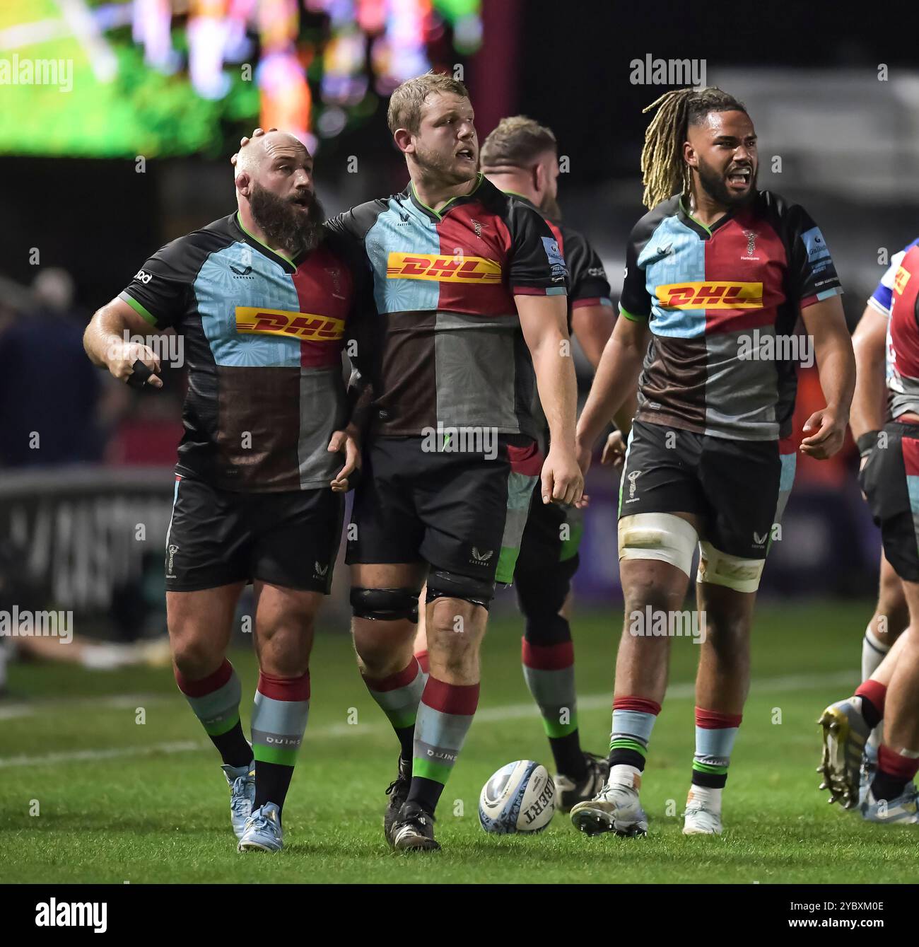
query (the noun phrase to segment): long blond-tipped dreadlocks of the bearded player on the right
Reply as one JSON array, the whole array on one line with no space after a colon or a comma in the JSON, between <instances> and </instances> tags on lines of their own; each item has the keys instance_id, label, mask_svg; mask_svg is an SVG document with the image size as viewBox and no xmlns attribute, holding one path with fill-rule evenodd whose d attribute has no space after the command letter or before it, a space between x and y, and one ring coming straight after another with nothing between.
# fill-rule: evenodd
<instances>
[{"instance_id":1,"label":"long blond-tipped dreadlocks of the bearded player on the right","mask_svg":"<svg viewBox=\"0 0 919 947\"><path fill-rule=\"evenodd\" d=\"M714 85L701 89L676 89L642 109L657 109L645 131L642 149L642 183L645 207L653 207L674 194L688 194L689 165L683 161L682 146L690 125L710 112L747 112L743 102Z\"/></svg>"}]
</instances>

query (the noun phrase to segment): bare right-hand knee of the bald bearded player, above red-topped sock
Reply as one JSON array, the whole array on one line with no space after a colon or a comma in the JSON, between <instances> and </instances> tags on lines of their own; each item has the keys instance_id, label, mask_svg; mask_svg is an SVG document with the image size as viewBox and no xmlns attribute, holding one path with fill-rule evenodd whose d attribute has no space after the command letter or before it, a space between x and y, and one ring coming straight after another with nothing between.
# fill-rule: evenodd
<instances>
[{"instance_id":1,"label":"bare right-hand knee of the bald bearded player, above red-topped sock","mask_svg":"<svg viewBox=\"0 0 919 947\"><path fill-rule=\"evenodd\" d=\"M276 677L301 677L309 670L313 622L323 596L256 582L258 665Z\"/></svg>"}]
</instances>

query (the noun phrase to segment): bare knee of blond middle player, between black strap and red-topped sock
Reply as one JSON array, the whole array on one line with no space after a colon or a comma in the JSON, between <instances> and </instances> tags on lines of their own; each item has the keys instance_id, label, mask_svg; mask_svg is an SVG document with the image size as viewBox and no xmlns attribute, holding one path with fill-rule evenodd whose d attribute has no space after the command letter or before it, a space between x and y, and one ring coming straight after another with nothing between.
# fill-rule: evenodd
<instances>
[{"instance_id":1,"label":"bare knee of blond middle player, between black strap and red-topped sock","mask_svg":"<svg viewBox=\"0 0 919 947\"><path fill-rule=\"evenodd\" d=\"M479 646L488 613L464 599L434 599L427 609L431 674L446 684L479 683Z\"/></svg>"}]
</instances>

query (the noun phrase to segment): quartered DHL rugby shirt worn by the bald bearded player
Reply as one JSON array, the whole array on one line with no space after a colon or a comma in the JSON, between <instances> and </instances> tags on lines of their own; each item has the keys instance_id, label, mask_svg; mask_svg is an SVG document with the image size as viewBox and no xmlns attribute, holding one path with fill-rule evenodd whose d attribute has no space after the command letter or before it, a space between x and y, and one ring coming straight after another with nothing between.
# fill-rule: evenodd
<instances>
[{"instance_id":1,"label":"quartered DHL rugby shirt worn by the bald bearded player","mask_svg":"<svg viewBox=\"0 0 919 947\"><path fill-rule=\"evenodd\" d=\"M185 339L176 472L234 491L327 487L342 466L327 450L346 420L341 352L368 290L338 235L287 259L237 214L153 254L119 298Z\"/></svg>"}]
</instances>

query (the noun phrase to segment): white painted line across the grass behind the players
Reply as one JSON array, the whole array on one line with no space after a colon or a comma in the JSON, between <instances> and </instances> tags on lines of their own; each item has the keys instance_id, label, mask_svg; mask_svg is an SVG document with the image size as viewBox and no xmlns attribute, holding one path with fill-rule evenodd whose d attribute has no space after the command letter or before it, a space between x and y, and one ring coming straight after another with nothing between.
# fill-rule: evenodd
<instances>
[{"instance_id":1,"label":"white painted line across the grass behind the players","mask_svg":"<svg viewBox=\"0 0 919 947\"><path fill-rule=\"evenodd\" d=\"M857 683L857 674L853 671L836 671L832 674L790 674L785 677L767 677L753 681L751 690L771 692L787 690L813 690L814 688L829 687L830 685L851 685ZM686 700L695 696L695 686L692 684L674 684L667 688L668 700ZM130 697L121 698L127 706L133 706ZM610 694L592 694L581 697L577 706L581 710L603 710L611 707ZM486 707L475 715L478 724L500 724L508 720L519 720L526 717L537 717L539 711L533 704L508 704L500 707ZM388 729L385 724L327 724L307 729L307 740L328 739L344 736L353 736L366 733L384 732ZM19 756L0 759L0 768L9 766L49 766L55 763L87 762L97 759L119 759L121 757L150 756L154 753L187 753L191 750L201 750L209 744L202 741L184 740L168 743L151 743L149 746L118 746L104 750L70 750L60 753L45 753L42 756Z\"/></svg>"}]
</instances>

